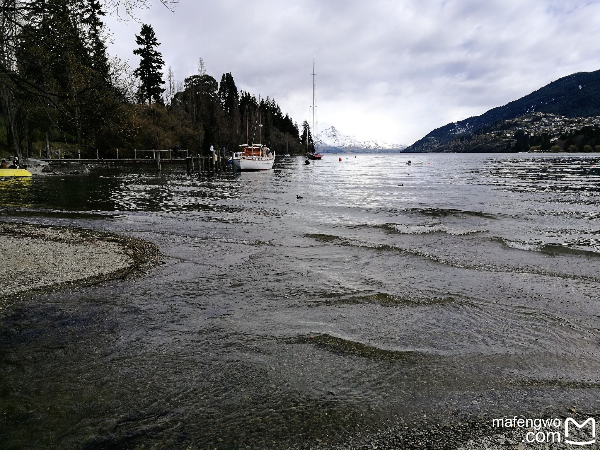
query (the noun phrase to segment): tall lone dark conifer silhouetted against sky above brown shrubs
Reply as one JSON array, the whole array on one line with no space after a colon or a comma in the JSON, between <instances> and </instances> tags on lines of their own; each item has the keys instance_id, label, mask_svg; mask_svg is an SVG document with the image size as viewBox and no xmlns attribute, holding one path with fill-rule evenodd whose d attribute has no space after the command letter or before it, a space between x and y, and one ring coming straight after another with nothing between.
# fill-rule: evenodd
<instances>
[{"instance_id":1,"label":"tall lone dark conifer silhouetted against sky above brown shrubs","mask_svg":"<svg viewBox=\"0 0 600 450\"><path fill-rule=\"evenodd\" d=\"M142 24L142 31L136 36L136 43L139 45L139 49L133 50L134 55L140 55L142 61L140 61L140 67L138 67L134 74L140 77L142 85L137 93L137 99L140 103L163 103L163 92L164 88L160 86L163 82L163 68L164 61L163 55L155 50L160 43L154 34L154 28L152 25Z\"/></svg>"}]
</instances>

